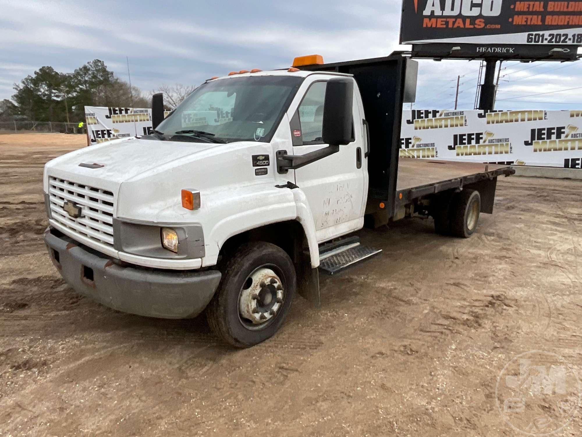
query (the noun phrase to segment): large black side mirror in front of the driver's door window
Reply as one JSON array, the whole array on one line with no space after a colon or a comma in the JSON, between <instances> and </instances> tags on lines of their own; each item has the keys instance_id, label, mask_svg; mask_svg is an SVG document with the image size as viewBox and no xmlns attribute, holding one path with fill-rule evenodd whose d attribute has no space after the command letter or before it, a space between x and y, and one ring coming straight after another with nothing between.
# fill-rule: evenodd
<instances>
[{"instance_id":1,"label":"large black side mirror in front of the driver's door window","mask_svg":"<svg viewBox=\"0 0 582 437\"><path fill-rule=\"evenodd\" d=\"M321 138L330 146L352 142L354 82L351 77L329 79L325 89Z\"/></svg>"}]
</instances>

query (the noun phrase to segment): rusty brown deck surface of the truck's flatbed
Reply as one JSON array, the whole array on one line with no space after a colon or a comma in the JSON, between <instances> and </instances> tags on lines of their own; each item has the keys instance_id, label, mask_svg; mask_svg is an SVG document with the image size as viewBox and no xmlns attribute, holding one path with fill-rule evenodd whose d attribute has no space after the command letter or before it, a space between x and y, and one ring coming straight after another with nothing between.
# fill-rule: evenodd
<instances>
[{"instance_id":1,"label":"rusty brown deck surface of the truck's flatbed","mask_svg":"<svg viewBox=\"0 0 582 437\"><path fill-rule=\"evenodd\" d=\"M507 167L507 165L470 163L467 161L400 158L398 161L396 191L440 184L451 179L459 179Z\"/></svg>"}]
</instances>

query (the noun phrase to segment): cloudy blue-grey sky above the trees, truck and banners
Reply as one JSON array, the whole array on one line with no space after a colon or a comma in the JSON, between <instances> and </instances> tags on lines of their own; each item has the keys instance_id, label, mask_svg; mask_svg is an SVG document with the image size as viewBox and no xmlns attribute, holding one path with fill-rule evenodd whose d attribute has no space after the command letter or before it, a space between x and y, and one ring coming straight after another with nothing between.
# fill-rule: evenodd
<instances>
[{"instance_id":1,"label":"cloudy blue-grey sky above the trees, truck and banners","mask_svg":"<svg viewBox=\"0 0 582 437\"><path fill-rule=\"evenodd\" d=\"M232 70L282 68L293 57L347 61L406 50L400 0L0 0L0 100L43 65L72 72L105 61L132 84L200 84ZM496 109L582 108L582 62L503 64ZM415 108L473 109L479 61L421 61ZM579 88L580 87L580 88Z\"/></svg>"}]
</instances>

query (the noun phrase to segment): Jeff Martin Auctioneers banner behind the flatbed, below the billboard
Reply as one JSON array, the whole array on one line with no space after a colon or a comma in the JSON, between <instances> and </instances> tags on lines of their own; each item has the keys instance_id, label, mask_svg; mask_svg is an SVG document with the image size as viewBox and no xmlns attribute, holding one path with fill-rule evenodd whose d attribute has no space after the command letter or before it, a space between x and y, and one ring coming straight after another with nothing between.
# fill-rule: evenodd
<instances>
[{"instance_id":1,"label":"Jeff Martin Auctioneers banner behind the flatbed, below the billboard","mask_svg":"<svg viewBox=\"0 0 582 437\"><path fill-rule=\"evenodd\" d=\"M407 110L400 157L582 167L582 111Z\"/></svg>"}]
</instances>

